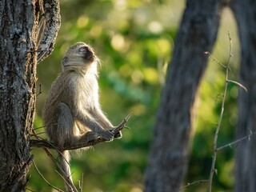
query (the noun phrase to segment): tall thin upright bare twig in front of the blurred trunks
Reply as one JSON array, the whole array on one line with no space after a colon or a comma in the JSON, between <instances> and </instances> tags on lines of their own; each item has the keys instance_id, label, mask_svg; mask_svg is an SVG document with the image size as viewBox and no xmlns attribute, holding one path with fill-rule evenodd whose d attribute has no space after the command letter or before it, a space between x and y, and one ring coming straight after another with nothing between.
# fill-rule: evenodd
<instances>
[{"instance_id":1,"label":"tall thin upright bare twig in front of the blurred trunks","mask_svg":"<svg viewBox=\"0 0 256 192\"><path fill-rule=\"evenodd\" d=\"M230 38L230 31L228 32L228 35L229 35L229 38ZM209 178L209 183L208 183L208 191L209 192L211 192L211 189L212 189L212 182L213 182L213 178L214 178L214 173L217 173L217 170L215 169L215 162L216 162L217 152L218 152L217 151L218 132L219 132L220 127L221 127L222 117L223 117L223 113L224 113L224 106L225 106L225 101L226 101L226 90L227 90L227 85L228 85L230 58L232 57L231 51L232 51L232 39L230 38L230 55L229 55L227 66L226 66L226 83L225 83L225 89L224 89L223 98L222 98L222 109L221 109L221 114L218 118L218 126L217 126L217 129L215 131L215 135L214 135L213 160L212 160L212 163L211 163L210 178Z\"/></svg>"}]
</instances>

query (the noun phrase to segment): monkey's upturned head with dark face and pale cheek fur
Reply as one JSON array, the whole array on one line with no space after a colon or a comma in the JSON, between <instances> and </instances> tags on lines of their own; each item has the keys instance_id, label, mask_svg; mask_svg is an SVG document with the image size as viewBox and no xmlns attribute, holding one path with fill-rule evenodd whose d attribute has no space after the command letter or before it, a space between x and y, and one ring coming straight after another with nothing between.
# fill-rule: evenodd
<instances>
[{"instance_id":1,"label":"monkey's upturned head with dark face and pale cheek fur","mask_svg":"<svg viewBox=\"0 0 256 192\"><path fill-rule=\"evenodd\" d=\"M97 66L97 63L94 50L84 42L77 42L66 50L62 70L87 70L90 66Z\"/></svg>"}]
</instances>

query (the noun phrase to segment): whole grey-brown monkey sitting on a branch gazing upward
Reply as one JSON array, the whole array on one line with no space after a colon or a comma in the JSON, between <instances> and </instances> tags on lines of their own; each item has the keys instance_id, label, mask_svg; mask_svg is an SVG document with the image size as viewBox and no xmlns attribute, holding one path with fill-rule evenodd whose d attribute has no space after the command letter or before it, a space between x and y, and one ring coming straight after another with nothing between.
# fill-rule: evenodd
<instances>
[{"instance_id":1,"label":"whole grey-brown monkey sitting on a branch gazing upward","mask_svg":"<svg viewBox=\"0 0 256 192\"><path fill-rule=\"evenodd\" d=\"M42 110L46 134L59 149L99 137L106 141L122 137L121 131L113 134L115 127L101 110L98 65L93 48L84 42L70 46L62 58L62 72L53 82ZM59 151L58 158L72 182L69 151ZM66 189L73 191L67 184Z\"/></svg>"}]
</instances>

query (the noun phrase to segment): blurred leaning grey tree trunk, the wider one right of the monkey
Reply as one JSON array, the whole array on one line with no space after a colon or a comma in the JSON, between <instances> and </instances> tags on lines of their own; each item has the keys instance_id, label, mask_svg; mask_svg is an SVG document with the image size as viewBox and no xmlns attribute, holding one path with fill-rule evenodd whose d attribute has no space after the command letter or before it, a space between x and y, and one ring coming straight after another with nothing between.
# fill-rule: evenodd
<instances>
[{"instance_id":1,"label":"blurred leaning grey tree trunk, the wider one right of the monkey","mask_svg":"<svg viewBox=\"0 0 256 192\"><path fill-rule=\"evenodd\" d=\"M177 191L186 173L194 98L218 33L222 3L189 0L154 126L145 191Z\"/></svg>"}]
</instances>

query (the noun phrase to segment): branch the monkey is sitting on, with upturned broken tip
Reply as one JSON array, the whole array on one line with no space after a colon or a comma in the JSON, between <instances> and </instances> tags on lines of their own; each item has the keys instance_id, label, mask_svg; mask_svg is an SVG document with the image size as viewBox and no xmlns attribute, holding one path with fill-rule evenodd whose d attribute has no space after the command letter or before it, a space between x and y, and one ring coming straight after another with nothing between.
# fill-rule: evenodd
<instances>
[{"instance_id":1,"label":"branch the monkey is sitting on, with upturned broken tip","mask_svg":"<svg viewBox=\"0 0 256 192\"><path fill-rule=\"evenodd\" d=\"M113 130L114 134L117 134L120 130L123 128L128 128L126 126L126 122L128 122L131 114L128 114L126 118L122 120L122 122ZM62 148L58 148L57 146L54 146L53 142L49 142L46 139L30 139L30 147L46 147L48 149L56 149L56 150L77 150L86 146L95 146L96 144L100 142L106 142L107 140L104 138L97 138L95 140L92 140L90 142L81 142L81 143L76 143L73 145L66 145L63 146Z\"/></svg>"}]
</instances>

